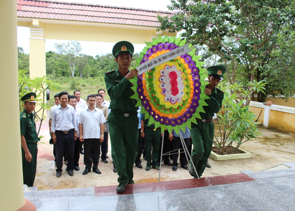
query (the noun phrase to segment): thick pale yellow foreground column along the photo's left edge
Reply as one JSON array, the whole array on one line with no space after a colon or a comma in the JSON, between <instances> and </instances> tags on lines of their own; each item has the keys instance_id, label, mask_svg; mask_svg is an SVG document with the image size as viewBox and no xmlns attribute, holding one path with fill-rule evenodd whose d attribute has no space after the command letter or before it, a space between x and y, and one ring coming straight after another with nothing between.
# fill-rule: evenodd
<instances>
[{"instance_id":1,"label":"thick pale yellow foreground column along the photo's left edge","mask_svg":"<svg viewBox=\"0 0 295 211\"><path fill-rule=\"evenodd\" d=\"M0 90L9 105L0 104L0 210L18 210L24 205L22 152L19 126L17 73L17 4L0 2Z\"/></svg>"}]
</instances>

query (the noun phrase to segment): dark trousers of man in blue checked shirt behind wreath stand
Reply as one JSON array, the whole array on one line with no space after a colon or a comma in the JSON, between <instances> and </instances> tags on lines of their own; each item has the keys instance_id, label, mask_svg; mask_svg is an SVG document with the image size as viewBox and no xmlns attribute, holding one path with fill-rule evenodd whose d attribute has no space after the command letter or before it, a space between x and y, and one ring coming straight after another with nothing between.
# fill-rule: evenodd
<instances>
[{"instance_id":1,"label":"dark trousers of man in blue checked shirt behind wreath stand","mask_svg":"<svg viewBox=\"0 0 295 211\"><path fill-rule=\"evenodd\" d=\"M183 140L184 140L186 147L189 149L189 138L184 138ZM178 160L178 150L179 149L181 149L180 150L180 159L179 159L180 165L181 166L186 165L186 162L187 162L186 156L189 158L189 155L188 155L188 153L186 153L186 156L185 156L183 146L181 144L181 140L177 136L173 136L172 149L173 149L172 153L176 153L176 154L172 155L173 156L173 166L178 166L177 160Z\"/></svg>"}]
</instances>

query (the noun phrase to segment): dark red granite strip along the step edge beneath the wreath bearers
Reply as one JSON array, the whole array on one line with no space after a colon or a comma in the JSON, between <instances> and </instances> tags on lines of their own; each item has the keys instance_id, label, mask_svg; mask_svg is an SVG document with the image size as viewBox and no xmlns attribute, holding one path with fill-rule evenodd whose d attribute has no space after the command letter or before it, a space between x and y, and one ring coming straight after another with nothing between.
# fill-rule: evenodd
<instances>
[{"instance_id":1,"label":"dark red granite strip along the step edge beneath the wreath bearers","mask_svg":"<svg viewBox=\"0 0 295 211\"><path fill-rule=\"evenodd\" d=\"M237 182L255 181L252 177L246 174L231 174L224 176L204 177L201 179L182 179L163 182L150 182L128 185L123 193L116 192L116 185L94 187L96 197L101 196L114 196L122 194L135 194L135 193L149 193L158 191L168 191L177 189L187 189L196 187L206 187L213 185L231 184Z\"/></svg>"}]
</instances>

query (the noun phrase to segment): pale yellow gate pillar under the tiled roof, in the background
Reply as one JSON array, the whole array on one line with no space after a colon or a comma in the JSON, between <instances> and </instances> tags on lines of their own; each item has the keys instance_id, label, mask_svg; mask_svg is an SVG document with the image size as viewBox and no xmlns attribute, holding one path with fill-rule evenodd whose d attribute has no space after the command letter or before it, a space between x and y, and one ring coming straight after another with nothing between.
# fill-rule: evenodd
<instances>
[{"instance_id":1,"label":"pale yellow gate pillar under the tiled roof, in the background","mask_svg":"<svg viewBox=\"0 0 295 211\"><path fill-rule=\"evenodd\" d=\"M43 23L33 19L30 25L30 78L46 75Z\"/></svg>"}]
</instances>

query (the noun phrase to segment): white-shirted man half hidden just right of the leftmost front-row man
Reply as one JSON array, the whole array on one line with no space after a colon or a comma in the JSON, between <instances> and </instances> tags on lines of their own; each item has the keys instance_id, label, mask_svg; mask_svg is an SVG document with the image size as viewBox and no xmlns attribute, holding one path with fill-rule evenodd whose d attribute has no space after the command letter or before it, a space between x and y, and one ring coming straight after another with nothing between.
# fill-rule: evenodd
<instances>
[{"instance_id":1,"label":"white-shirted man half hidden just right of the leftmost front-row man","mask_svg":"<svg viewBox=\"0 0 295 211\"><path fill-rule=\"evenodd\" d=\"M78 124L78 119L79 119L79 115L81 112L81 109L77 108L77 97L74 95L70 95L69 97L69 102L68 104L73 106L75 109L75 116L76 116L76 121L77 121L77 127L79 128L79 124ZM79 167L79 159L80 159L80 147L81 147L81 142L79 140L80 137L80 133L79 130L77 130L77 140L75 141L75 147L74 147L74 166L75 166L75 170L79 171L80 167Z\"/></svg>"}]
</instances>

